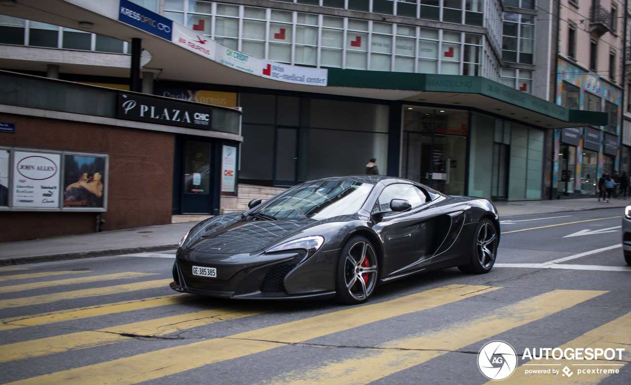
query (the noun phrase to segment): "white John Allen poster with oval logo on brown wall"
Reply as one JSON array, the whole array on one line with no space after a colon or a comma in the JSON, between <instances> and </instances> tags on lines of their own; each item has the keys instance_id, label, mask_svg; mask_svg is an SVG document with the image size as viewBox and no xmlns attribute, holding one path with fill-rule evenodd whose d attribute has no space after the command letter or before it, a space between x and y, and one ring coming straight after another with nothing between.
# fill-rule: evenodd
<instances>
[{"instance_id":1,"label":"white John Allen poster with oval logo on brown wall","mask_svg":"<svg viewBox=\"0 0 631 385\"><path fill-rule=\"evenodd\" d=\"M13 153L13 207L59 208L61 154Z\"/></svg>"}]
</instances>

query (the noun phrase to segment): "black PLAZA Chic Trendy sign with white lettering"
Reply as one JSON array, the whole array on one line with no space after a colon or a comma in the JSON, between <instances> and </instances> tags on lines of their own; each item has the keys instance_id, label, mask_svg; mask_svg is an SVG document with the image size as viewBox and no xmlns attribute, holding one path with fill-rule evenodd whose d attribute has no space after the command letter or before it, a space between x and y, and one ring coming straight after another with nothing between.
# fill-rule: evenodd
<instances>
[{"instance_id":1,"label":"black PLAZA Chic Trendy sign with white lettering","mask_svg":"<svg viewBox=\"0 0 631 385\"><path fill-rule=\"evenodd\" d=\"M203 105L119 94L117 117L168 126L211 129L213 109Z\"/></svg>"}]
</instances>

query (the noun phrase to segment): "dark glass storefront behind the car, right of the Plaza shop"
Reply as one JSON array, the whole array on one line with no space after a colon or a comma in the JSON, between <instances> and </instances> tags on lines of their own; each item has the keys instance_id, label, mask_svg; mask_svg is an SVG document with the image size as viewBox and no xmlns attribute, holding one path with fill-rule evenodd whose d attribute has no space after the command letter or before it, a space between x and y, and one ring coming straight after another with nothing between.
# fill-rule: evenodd
<instances>
[{"instance_id":1,"label":"dark glass storefront behind the car, right of the Plaza shop","mask_svg":"<svg viewBox=\"0 0 631 385\"><path fill-rule=\"evenodd\" d=\"M389 106L241 93L240 179L291 186L365 174L370 158L386 174Z\"/></svg>"}]
</instances>

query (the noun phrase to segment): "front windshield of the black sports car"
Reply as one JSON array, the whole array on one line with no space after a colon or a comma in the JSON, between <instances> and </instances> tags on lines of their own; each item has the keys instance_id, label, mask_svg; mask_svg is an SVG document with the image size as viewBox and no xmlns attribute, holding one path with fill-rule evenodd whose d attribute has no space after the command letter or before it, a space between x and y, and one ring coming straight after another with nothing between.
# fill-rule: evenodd
<instances>
[{"instance_id":1,"label":"front windshield of the black sports car","mask_svg":"<svg viewBox=\"0 0 631 385\"><path fill-rule=\"evenodd\" d=\"M322 220L357 213L374 184L349 181L320 181L300 184L265 204L256 214L278 220L312 218ZM255 215L256 215L255 214Z\"/></svg>"}]
</instances>

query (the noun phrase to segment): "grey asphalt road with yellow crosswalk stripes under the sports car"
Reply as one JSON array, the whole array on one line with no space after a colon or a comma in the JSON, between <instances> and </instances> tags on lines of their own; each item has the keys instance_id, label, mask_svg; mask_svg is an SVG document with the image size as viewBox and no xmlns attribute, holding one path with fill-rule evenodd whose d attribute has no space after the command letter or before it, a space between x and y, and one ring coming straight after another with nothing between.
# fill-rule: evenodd
<instances>
[{"instance_id":1,"label":"grey asphalt road with yellow crosswalk stripes under the sports car","mask_svg":"<svg viewBox=\"0 0 631 385\"><path fill-rule=\"evenodd\" d=\"M486 384L495 381L478 369L478 352L502 340L518 365L502 384L628 384L631 266L620 215L502 218L487 275L454 268L406 278L354 307L175 293L174 252L0 268L0 382ZM522 359L527 348L557 347L624 351L614 360ZM526 374L565 367L571 377Z\"/></svg>"}]
</instances>

